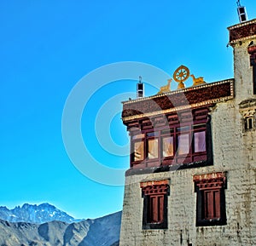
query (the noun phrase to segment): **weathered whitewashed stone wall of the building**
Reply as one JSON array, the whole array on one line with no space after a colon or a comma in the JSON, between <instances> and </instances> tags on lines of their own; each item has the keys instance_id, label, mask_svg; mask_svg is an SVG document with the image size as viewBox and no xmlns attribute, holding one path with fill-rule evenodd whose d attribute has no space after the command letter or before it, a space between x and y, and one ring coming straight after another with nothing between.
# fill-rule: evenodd
<instances>
[{"instance_id":1,"label":"weathered whitewashed stone wall of the building","mask_svg":"<svg viewBox=\"0 0 256 246\"><path fill-rule=\"evenodd\" d=\"M239 105L256 100L247 45L256 38L233 43L235 98L217 103L212 116L213 165L154 174L126 176L120 246L256 245L256 131L245 131ZM252 110L249 109L248 110ZM253 108L255 111L255 109ZM195 174L226 172L227 224L195 226ZM140 182L170 180L168 229L143 230Z\"/></svg>"}]
</instances>

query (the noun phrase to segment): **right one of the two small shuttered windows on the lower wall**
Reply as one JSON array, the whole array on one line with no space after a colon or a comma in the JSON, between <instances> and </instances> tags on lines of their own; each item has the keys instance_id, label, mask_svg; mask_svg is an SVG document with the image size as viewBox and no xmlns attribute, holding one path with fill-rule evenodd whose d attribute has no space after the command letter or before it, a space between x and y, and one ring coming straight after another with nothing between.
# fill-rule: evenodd
<instances>
[{"instance_id":1,"label":"right one of the two small shuttered windows on the lower wall","mask_svg":"<svg viewBox=\"0 0 256 246\"><path fill-rule=\"evenodd\" d=\"M201 178L198 178L201 177ZM226 225L226 179L223 173L195 175L196 222L195 226Z\"/></svg>"}]
</instances>

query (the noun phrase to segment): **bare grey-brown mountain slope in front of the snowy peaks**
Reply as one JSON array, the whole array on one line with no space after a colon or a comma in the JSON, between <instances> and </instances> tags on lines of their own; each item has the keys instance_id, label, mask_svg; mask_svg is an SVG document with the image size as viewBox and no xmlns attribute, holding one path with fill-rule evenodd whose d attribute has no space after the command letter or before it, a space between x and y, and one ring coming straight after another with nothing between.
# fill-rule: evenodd
<instances>
[{"instance_id":1,"label":"bare grey-brown mountain slope in front of the snowy peaks","mask_svg":"<svg viewBox=\"0 0 256 246\"><path fill-rule=\"evenodd\" d=\"M121 212L72 223L54 220L35 224L0 220L0 246L119 245L120 223Z\"/></svg>"}]
</instances>

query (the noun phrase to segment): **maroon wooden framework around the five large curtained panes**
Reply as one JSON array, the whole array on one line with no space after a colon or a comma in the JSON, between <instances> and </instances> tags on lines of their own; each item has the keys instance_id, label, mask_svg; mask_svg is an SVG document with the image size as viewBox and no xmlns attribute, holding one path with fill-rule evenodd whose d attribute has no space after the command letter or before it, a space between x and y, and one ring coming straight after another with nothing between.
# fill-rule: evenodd
<instances>
[{"instance_id":1,"label":"maroon wooden framework around the five large curtained panes","mask_svg":"<svg viewBox=\"0 0 256 246\"><path fill-rule=\"evenodd\" d=\"M196 151L195 146L195 134L203 132L205 142L202 144L204 147L197 146L201 148L201 151ZM141 138L137 138L142 136ZM181 153L178 140L182 137L188 135L189 146L188 151ZM163 154L163 141L166 137L172 138L173 150L172 155L165 156ZM148 157L148 141L156 140L158 142L158 152L157 157ZM183 140L185 140L183 138ZM140 160L135 160L134 145L137 141L143 142L143 158ZM198 161L207 160L207 123L204 121L199 121L196 124L176 124L172 127L162 128L162 129L150 129L142 132L131 133L131 167L132 168L145 168L160 165L170 165L175 163L193 163Z\"/></svg>"}]
</instances>

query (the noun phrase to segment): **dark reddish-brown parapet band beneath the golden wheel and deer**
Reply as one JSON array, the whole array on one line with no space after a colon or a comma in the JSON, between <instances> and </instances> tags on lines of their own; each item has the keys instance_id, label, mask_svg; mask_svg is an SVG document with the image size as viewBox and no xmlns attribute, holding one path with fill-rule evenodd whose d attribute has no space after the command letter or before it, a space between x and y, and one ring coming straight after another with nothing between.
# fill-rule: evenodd
<instances>
[{"instance_id":1,"label":"dark reddish-brown parapet band beneath the golden wheel and deer","mask_svg":"<svg viewBox=\"0 0 256 246\"><path fill-rule=\"evenodd\" d=\"M123 102L123 122L180 112L234 98L234 79Z\"/></svg>"}]
</instances>

